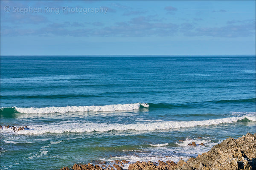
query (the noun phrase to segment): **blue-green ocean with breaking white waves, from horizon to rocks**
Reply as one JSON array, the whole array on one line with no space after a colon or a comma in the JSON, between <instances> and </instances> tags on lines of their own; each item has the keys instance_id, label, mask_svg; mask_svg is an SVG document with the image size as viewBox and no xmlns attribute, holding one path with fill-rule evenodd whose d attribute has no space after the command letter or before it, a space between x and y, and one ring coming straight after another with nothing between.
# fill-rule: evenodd
<instances>
[{"instance_id":1,"label":"blue-green ocean with breaking white waves, from horizon to rocks","mask_svg":"<svg viewBox=\"0 0 256 170\"><path fill-rule=\"evenodd\" d=\"M0 169L187 161L255 133L255 66L242 55L1 56Z\"/></svg>"}]
</instances>

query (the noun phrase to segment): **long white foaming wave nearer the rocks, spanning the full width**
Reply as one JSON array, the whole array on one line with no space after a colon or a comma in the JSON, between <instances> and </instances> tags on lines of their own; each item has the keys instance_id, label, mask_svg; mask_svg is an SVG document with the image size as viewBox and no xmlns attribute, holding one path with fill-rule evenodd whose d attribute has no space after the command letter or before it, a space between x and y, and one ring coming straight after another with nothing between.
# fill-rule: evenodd
<instances>
[{"instance_id":1,"label":"long white foaming wave nearer the rocks, spanning the full width","mask_svg":"<svg viewBox=\"0 0 256 170\"><path fill-rule=\"evenodd\" d=\"M28 125L30 129L13 132L11 128L3 128L2 132L18 134L43 134L43 133L86 133L86 132L107 132L112 130L125 131L149 131L149 130L168 130L173 128L195 127L219 125L221 123L233 123L241 120L256 121L255 116L227 117L222 119L209 119L200 121L166 121L137 124L106 124L106 123L54 123L49 125Z\"/></svg>"}]
</instances>

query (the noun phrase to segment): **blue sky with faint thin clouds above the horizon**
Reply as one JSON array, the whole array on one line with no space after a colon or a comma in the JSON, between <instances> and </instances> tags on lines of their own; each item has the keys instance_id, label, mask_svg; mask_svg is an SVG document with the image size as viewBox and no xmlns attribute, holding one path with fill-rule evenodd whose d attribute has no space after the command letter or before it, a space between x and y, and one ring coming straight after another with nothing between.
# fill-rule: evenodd
<instances>
[{"instance_id":1,"label":"blue sky with faint thin clouds above the horizon","mask_svg":"<svg viewBox=\"0 0 256 170\"><path fill-rule=\"evenodd\" d=\"M0 1L0 55L255 55L256 1Z\"/></svg>"}]
</instances>

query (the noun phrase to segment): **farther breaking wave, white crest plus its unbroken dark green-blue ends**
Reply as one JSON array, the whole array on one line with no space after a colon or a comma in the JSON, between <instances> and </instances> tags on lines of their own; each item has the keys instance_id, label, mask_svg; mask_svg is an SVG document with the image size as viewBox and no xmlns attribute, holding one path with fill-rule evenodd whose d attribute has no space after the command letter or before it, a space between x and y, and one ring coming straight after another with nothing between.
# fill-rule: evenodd
<instances>
[{"instance_id":1,"label":"farther breaking wave, white crest plus its unbroken dark green-blue ends","mask_svg":"<svg viewBox=\"0 0 256 170\"><path fill-rule=\"evenodd\" d=\"M2 96L1 96L2 97ZM105 106L66 106L66 107L46 107L46 108L18 108L9 107L1 108L1 116L10 116L14 113L67 113L67 112L88 112L88 111L131 111L140 108L196 108L209 107L209 103L255 103L256 98L248 99L233 99L233 100L211 100L204 102L186 102L186 103L132 103L132 104L118 104L118 105L105 105Z\"/></svg>"}]
</instances>

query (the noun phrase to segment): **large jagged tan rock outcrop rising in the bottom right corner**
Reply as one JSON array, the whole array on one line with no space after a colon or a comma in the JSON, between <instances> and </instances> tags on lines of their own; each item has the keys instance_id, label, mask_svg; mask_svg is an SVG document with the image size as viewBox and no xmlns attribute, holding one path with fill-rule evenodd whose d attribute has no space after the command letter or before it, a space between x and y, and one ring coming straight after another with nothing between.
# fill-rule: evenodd
<instances>
[{"instance_id":1,"label":"large jagged tan rock outcrop rising in the bottom right corner","mask_svg":"<svg viewBox=\"0 0 256 170\"><path fill-rule=\"evenodd\" d=\"M178 169L256 169L256 133L238 139L227 138L207 153L190 158Z\"/></svg>"}]
</instances>

